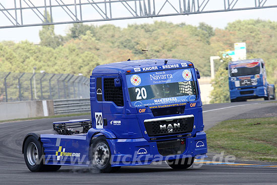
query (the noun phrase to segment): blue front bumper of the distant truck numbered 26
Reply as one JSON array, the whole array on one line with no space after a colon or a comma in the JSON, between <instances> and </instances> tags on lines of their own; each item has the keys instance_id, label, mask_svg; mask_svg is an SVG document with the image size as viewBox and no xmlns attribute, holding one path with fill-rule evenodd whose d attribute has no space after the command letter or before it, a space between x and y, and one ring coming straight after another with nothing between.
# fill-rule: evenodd
<instances>
[{"instance_id":1,"label":"blue front bumper of the distant truck numbered 26","mask_svg":"<svg viewBox=\"0 0 277 185\"><path fill-rule=\"evenodd\" d=\"M258 87L249 87L249 88L235 88L230 90L230 99L236 98L259 98L265 97L266 95L266 88L264 86Z\"/></svg>"}]
</instances>

